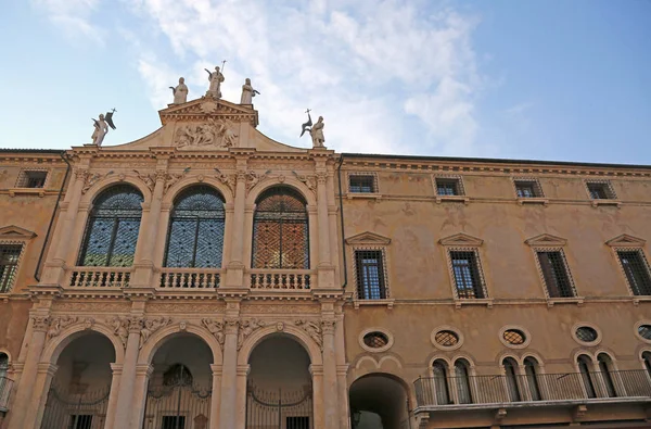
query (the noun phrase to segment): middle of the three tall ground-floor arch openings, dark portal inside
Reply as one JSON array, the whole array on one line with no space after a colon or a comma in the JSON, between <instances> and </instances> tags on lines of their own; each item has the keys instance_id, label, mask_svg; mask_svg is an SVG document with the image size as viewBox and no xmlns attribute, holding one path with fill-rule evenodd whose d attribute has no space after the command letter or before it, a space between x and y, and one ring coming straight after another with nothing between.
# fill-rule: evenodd
<instances>
[{"instance_id":1,"label":"middle of the three tall ground-floor arch openings, dark portal inside","mask_svg":"<svg viewBox=\"0 0 651 429\"><path fill-rule=\"evenodd\" d=\"M199 337L179 333L152 358L143 429L207 429L213 351Z\"/></svg>"}]
</instances>

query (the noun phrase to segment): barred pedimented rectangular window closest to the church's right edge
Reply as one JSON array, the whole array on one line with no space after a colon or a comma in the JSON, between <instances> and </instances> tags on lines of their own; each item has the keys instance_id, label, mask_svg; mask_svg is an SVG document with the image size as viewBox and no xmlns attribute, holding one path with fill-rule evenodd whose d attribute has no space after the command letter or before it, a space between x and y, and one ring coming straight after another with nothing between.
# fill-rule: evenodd
<instances>
[{"instance_id":1,"label":"barred pedimented rectangular window closest to the church's right edge","mask_svg":"<svg viewBox=\"0 0 651 429\"><path fill-rule=\"evenodd\" d=\"M357 298L360 300L386 299L384 257L381 250L355 251L357 268Z\"/></svg>"}]
</instances>

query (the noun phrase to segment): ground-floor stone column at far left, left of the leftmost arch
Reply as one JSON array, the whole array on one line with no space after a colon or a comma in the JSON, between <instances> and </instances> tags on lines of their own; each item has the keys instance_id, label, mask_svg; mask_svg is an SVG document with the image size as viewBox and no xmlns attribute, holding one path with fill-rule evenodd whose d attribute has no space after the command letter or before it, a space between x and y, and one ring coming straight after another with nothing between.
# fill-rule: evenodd
<instances>
[{"instance_id":1,"label":"ground-floor stone column at far left, left of the leftmost arch","mask_svg":"<svg viewBox=\"0 0 651 429\"><path fill-rule=\"evenodd\" d=\"M47 392L35 391L38 363L40 361L46 332L50 326L50 317L43 315L31 316L31 339L25 357L25 366L21 375L21 381L14 400L14 407L9 418L9 429L26 429L24 425L27 415L34 415L38 411L40 396ZM37 400L38 399L38 400ZM21 406L16 406L22 404Z\"/></svg>"}]
</instances>

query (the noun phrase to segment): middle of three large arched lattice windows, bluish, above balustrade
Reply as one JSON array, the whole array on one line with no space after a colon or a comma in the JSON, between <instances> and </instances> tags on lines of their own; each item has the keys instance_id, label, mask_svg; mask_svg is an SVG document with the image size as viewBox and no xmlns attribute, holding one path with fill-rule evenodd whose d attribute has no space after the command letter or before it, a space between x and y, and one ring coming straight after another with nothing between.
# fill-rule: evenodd
<instances>
[{"instance_id":1,"label":"middle of three large arched lattice windows, bluish, above balustrade","mask_svg":"<svg viewBox=\"0 0 651 429\"><path fill-rule=\"evenodd\" d=\"M224 199L208 186L179 194L171 211L166 267L220 268L224 250Z\"/></svg>"}]
</instances>

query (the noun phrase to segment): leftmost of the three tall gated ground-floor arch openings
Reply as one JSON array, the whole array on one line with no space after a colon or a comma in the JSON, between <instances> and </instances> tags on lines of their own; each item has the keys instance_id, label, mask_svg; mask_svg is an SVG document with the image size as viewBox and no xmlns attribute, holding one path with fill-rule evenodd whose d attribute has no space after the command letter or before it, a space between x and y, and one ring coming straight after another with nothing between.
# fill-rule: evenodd
<instances>
[{"instance_id":1,"label":"leftmost of the three tall gated ground-floor arch openings","mask_svg":"<svg viewBox=\"0 0 651 429\"><path fill-rule=\"evenodd\" d=\"M115 362L113 343L88 332L71 341L56 359L41 428L102 428Z\"/></svg>"}]
</instances>

